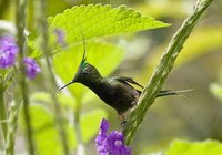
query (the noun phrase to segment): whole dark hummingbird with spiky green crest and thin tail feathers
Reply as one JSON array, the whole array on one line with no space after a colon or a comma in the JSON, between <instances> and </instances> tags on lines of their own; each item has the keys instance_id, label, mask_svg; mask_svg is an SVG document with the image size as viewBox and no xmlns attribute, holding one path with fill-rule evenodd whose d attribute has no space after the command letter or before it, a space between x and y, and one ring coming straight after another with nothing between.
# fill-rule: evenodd
<instances>
[{"instance_id":1,"label":"whole dark hummingbird with spiky green crest and thin tail feathers","mask_svg":"<svg viewBox=\"0 0 222 155\"><path fill-rule=\"evenodd\" d=\"M83 46L83 56L74 78L69 83L61 86L59 91L73 83L83 84L94 92L105 104L113 107L120 116L122 123L125 122L125 112L137 105L142 92L134 89L132 85L137 85L141 89L143 89L143 86L135 82L132 78L102 76L95 66L87 62L84 40ZM161 90L157 97L178 95L178 92L179 91Z\"/></svg>"}]
</instances>

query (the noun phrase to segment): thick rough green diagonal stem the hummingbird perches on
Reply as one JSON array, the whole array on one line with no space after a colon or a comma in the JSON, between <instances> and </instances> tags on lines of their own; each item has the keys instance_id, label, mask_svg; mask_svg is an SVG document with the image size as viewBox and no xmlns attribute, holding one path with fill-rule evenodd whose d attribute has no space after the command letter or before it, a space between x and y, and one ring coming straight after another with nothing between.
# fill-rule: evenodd
<instances>
[{"instance_id":1,"label":"thick rough green diagonal stem the hummingbird perches on","mask_svg":"<svg viewBox=\"0 0 222 155\"><path fill-rule=\"evenodd\" d=\"M139 126L145 116L147 111L154 102L157 94L160 92L164 81L168 78L168 74L173 68L175 59L183 48L185 40L191 34L194 25L196 24L198 19L200 19L202 13L212 2L213 0L199 0L193 13L184 20L181 28L172 38L169 46L160 60L159 65L157 66L148 85L144 87L139 99L138 107L131 112L129 121L127 125L124 125L123 131L127 145L130 145L132 142Z\"/></svg>"}]
</instances>

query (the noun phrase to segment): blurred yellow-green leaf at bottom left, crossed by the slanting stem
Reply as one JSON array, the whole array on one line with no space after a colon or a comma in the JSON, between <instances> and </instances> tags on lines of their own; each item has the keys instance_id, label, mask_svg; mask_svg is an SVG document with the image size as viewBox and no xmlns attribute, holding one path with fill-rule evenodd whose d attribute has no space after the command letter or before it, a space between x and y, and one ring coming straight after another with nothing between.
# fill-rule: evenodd
<instances>
[{"instance_id":1,"label":"blurred yellow-green leaf at bottom left, crossed by the slanting stem","mask_svg":"<svg viewBox=\"0 0 222 155\"><path fill-rule=\"evenodd\" d=\"M43 105L34 104L29 107L31 114L31 126L33 131L37 152L39 155L61 155L62 145L54 122L53 114ZM21 122L23 126L23 121ZM65 124L70 148L77 146L74 128Z\"/></svg>"}]
</instances>

